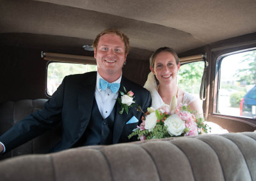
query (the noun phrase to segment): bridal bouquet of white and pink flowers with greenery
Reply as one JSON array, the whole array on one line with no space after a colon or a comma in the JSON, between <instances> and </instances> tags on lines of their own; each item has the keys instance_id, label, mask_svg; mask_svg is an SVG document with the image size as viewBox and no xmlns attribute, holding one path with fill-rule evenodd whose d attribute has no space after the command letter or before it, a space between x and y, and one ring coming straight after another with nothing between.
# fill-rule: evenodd
<instances>
[{"instance_id":1,"label":"bridal bouquet of white and pink flowers with greenery","mask_svg":"<svg viewBox=\"0 0 256 181\"><path fill-rule=\"evenodd\" d=\"M142 123L133 130L129 139L136 135L142 141L173 136L197 136L202 133L207 133L204 119L196 117L195 112L189 110L187 105L180 103L177 106L176 96L173 96L170 106L164 105L157 110L148 108L145 117L142 117Z\"/></svg>"}]
</instances>

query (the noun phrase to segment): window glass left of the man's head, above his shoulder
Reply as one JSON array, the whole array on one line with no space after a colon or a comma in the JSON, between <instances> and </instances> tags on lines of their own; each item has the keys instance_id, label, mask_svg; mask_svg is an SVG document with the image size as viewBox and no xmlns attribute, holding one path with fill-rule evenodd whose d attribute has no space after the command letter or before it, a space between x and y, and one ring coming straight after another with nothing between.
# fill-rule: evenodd
<instances>
[{"instance_id":1,"label":"window glass left of the man's head, above his shoulder","mask_svg":"<svg viewBox=\"0 0 256 181\"><path fill-rule=\"evenodd\" d=\"M47 66L47 96L52 96L67 75L97 71L96 65L50 62Z\"/></svg>"}]
</instances>

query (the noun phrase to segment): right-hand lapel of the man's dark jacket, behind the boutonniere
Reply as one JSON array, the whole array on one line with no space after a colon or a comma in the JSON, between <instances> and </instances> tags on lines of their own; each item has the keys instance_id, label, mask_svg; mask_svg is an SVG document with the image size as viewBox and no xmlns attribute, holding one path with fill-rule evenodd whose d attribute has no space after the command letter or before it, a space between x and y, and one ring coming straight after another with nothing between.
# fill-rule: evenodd
<instances>
[{"instance_id":1,"label":"right-hand lapel of the man's dark jacket, behind the boutonniere","mask_svg":"<svg viewBox=\"0 0 256 181\"><path fill-rule=\"evenodd\" d=\"M126 89L127 88L126 83L127 82L125 81L124 76L122 76L122 80L120 82L120 89L119 89L120 91L124 92L123 86ZM126 91L129 91L129 90L126 90ZM121 94L119 92L118 98L120 98L120 97L121 97ZM128 115L125 111L122 114L119 113L122 110L122 108L118 103L116 103L116 104L117 105L116 105L115 122L114 122L113 144L118 143L118 140L122 134L122 130L123 130L125 123L127 122L127 118L128 118Z\"/></svg>"}]
</instances>

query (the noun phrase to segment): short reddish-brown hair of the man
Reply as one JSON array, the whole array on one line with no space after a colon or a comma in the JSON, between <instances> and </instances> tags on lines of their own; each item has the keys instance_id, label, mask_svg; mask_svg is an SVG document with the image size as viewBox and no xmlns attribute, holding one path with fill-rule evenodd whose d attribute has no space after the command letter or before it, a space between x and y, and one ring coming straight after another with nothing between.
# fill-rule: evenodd
<instances>
[{"instance_id":1,"label":"short reddish-brown hair of the man","mask_svg":"<svg viewBox=\"0 0 256 181\"><path fill-rule=\"evenodd\" d=\"M118 29L115 29L115 28L105 29L104 31L102 31L102 33L100 33L96 36L96 38L93 41L93 48L96 50L96 52L97 52L97 47L98 47L100 37L103 36L104 34L116 34L116 35L120 36L121 40L124 42L125 54L128 54L129 49L130 49L129 38L124 33L122 33L121 31L119 31Z\"/></svg>"}]
</instances>

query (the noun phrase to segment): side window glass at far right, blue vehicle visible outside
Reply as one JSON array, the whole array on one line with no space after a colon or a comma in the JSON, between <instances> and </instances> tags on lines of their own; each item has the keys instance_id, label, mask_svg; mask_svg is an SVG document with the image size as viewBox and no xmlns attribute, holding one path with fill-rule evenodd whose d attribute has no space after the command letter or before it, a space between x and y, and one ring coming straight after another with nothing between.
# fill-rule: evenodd
<instances>
[{"instance_id":1,"label":"side window glass at far right, blue vehicle visible outside","mask_svg":"<svg viewBox=\"0 0 256 181\"><path fill-rule=\"evenodd\" d=\"M220 61L217 112L253 117L256 112L256 50L228 55Z\"/></svg>"}]
</instances>

